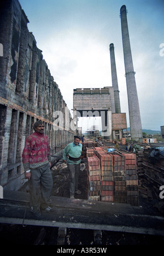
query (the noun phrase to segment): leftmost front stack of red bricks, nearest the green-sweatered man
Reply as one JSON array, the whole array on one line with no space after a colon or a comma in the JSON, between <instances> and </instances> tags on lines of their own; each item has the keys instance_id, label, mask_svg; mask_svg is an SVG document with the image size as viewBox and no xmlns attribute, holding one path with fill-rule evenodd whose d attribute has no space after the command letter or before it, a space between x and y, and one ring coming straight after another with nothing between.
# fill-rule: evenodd
<instances>
[{"instance_id":1,"label":"leftmost front stack of red bricks, nearest the green-sweatered man","mask_svg":"<svg viewBox=\"0 0 164 256\"><path fill-rule=\"evenodd\" d=\"M101 200L101 168L96 155L87 158L87 171L89 182L89 200Z\"/></svg>"}]
</instances>

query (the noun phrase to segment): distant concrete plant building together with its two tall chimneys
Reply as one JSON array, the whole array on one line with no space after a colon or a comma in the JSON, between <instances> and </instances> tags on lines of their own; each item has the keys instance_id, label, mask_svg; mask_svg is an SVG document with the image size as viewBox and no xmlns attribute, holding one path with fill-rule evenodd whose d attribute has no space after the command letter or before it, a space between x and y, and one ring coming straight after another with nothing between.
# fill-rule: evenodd
<instances>
[{"instance_id":1,"label":"distant concrete plant building together with its two tall chimneys","mask_svg":"<svg viewBox=\"0 0 164 256\"><path fill-rule=\"evenodd\" d=\"M131 139L142 142L142 124L133 68L130 37L128 34L126 6L120 9L122 44L124 50L125 77L127 85L128 111L130 117ZM102 118L102 137L121 139L126 126L126 113L121 113L118 78L114 54L114 44L109 45L112 73L112 86L104 88L77 88L73 92L74 119L78 117ZM115 124L115 125L114 125ZM78 132L78 131L77 131Z\"/></svg>"}]
</instances>

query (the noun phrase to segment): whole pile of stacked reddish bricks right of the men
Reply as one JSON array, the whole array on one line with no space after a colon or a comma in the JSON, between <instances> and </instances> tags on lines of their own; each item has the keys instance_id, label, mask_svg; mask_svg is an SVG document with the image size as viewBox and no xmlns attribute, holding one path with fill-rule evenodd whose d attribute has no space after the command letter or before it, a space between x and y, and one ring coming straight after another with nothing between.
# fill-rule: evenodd
<instances>
[{"instance_id":1,"label":"whole pile of stacked reddish bricks right of the men","mask_svg":"<svg viewBox=\"0 0 164 256\"><path fill-rule=\"evenodd\" d=\"M138 206L136 155L107 153L103 147L95 147L92 154L87 157L89 199Z\"/></svg>"}]
</instances>

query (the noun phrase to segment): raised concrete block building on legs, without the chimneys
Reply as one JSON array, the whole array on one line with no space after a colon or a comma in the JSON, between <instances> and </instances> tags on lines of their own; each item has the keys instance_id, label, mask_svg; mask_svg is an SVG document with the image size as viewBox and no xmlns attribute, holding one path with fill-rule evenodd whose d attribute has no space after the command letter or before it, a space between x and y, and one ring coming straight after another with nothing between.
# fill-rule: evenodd
<instances>
[{"instance_id":1,"label":"raised concrete block building on legs, without the chimneys","mask_svg":"<svg viewBox=\"0 0 164 256\"><path fill-rule=\"evenodd\" d=\"M103 138L122 139L127 129L126 113L115 113L113 86L74 89L73 110L77 124L79 117L101 117Z\"/></svg>"}]
</instances>

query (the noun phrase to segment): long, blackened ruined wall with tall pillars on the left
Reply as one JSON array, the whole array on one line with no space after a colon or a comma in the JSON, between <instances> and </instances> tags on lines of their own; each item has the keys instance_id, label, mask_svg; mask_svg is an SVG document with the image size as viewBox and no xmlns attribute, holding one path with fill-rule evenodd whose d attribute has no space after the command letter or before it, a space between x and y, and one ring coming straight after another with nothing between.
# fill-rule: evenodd
<instances>
[{"instance_id":1,"label":"long, blackened ruined wall with tall pillars on the left","mask_svg":"<svg viewBox=\"0 0 164 256\"><path fill-rule=\"evenodd\" d=\"M68 125L71 114L36 39L28 31L28 22L19 1L1 3L0 185L11 190L24 183L21 155L35 121L44 121L51 154L61 153L74 136ZM56 111L63 113L60 129L54 124Z\"/></svg>"}]
</instances>

